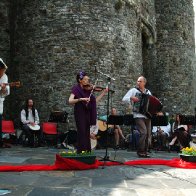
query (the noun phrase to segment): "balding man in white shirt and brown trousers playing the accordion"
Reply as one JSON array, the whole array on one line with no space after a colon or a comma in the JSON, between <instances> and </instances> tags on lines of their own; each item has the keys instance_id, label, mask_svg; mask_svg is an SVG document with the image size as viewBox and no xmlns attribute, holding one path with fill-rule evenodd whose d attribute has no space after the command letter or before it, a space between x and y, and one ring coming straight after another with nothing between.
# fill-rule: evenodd
<instances>
[{"instance_id":1,"label":"balding man in white shirt and brown trousers playing the accordion","mask_svg":"<svg viewBox=\"0 0 196 196\"><path fill-rule=\"evenodd\" d=\"M151 92L145 88L146 82L146 78L140 76L137 79L137 86L130 89L122 99L123 102L131 102L133 105L133 117L140 132L139 145L137 148L137 154L139 157L149 157L147 151L150 143L151 120L139 111L142 93L151 95Z\"/></svg>"}]
</instances>

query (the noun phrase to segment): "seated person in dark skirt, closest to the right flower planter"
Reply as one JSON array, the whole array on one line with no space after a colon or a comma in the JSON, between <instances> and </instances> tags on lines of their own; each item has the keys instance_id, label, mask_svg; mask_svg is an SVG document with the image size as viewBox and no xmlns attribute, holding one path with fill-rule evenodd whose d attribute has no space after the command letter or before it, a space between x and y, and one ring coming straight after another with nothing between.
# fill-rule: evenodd
<instances>
[{"instance_id":1,"label":"seated person in dark skirt, closest to the right flower planter","mask_svg":"<svg viewBox=\"0 0 196 196\"><path fill-rule=\"evenodd\" d=\"M179 114L176 114L176 119L172 126L172 141L169 143L169 146L173 146L176 141L179 142L180 149L189 147L191 141L189 128L187 125L180 124Z\"/></svg>"}]
</instances>

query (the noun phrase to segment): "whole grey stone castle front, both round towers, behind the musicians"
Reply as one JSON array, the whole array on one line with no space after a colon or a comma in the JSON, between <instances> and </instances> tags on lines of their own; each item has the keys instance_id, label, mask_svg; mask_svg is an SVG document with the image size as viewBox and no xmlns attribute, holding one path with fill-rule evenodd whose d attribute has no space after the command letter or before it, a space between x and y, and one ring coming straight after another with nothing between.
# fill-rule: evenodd
<instances>
[{"instance_id":1,"label":"whole grey stone castle front, both round towers, behind the musicians","mask_svg":"<svg viewBox=\"0 0 196 196\"><path fill-rule=\"evenodd\" d=\"M79 70L88 72L92 82L98 77L98 85L107 85L94 65L116 79L111 102L122 113L127 106L121 99L140 74L166 111L193 111L191 0L2 2L10 12L9 78L23 84L6 100L10 118L19 115L28 97L35 100L41 120L47 120L51 110L72 114L67 100ZM98 109L106 112L106 98Z\"/></svg>"}]
</instances>

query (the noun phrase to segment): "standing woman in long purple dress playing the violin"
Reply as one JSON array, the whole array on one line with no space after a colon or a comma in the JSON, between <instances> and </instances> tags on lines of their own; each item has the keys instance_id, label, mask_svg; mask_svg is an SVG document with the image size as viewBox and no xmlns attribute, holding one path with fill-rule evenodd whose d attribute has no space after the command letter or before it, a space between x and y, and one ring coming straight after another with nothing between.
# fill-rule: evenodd
<instances>
[{"instance_id":1,"label":"standing woman in long purple dress playing the violin","mask_svg":"<svg viewBox=\"0 0 196 196\"><path fill-rule=\"evenodd\" d=\"M76 76L77 84L72 88L69 104L74 105L74 117L77 127L77 153L91 151L90 126L96 125L97 111L96 99L89 85L89 77L84 71Z\"/></svg>"}]
</instances>

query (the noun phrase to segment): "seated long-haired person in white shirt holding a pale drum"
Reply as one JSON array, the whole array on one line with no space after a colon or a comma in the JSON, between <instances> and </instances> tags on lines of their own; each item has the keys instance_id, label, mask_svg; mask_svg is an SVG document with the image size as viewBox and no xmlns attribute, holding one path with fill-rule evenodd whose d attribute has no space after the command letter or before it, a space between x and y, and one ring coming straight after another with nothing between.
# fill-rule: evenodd
<instances>
[{"instance_id":1,"label":"seated long-haired person in white shirt holding a pale drum","mask_svg":"<svg viewBox=\"0 0 196 196\"><path fill-rule=\"evenodd\" d=\"M40 145L41 131L39 126L39 116L37 109L34 108L32 99L26 100L25 108L21 111L22 130L28 138L29 146L34 146L33 131L36 131L38 145Z\"/></svg>"}]
</instances>

